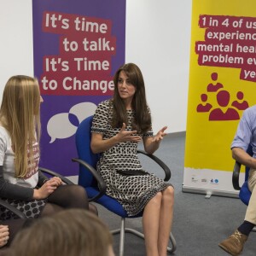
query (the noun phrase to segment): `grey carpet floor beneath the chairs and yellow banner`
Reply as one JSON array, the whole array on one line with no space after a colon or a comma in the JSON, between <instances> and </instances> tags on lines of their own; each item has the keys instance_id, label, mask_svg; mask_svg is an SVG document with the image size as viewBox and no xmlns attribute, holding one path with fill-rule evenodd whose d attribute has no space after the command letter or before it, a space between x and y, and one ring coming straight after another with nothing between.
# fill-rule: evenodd
<instances>
[{"instance_id":1,"label":"grey carpet floor beneath the chairs and yellow banner","mask_svg":"<svg viewBox=\"0 0 256 256\"><path fill-rule=\"evenodd\" d=\"M161 143L156 155L172 170L171 182L175 188L175 207L172 234L177 241L175 256L222 256L229 255L218 247L222 241L243 221L246 206L236 198L184 193L183 160L185 135L183 133L168 135ZM141 148L141 145L140 145ZM162 172L152 163L141 158L143 166L149 172L155 172L160 177ZM100 218L110 230L118 229L120 218L105 208L97 205ZM126 219L126 227L142 231L142 218ZM113 236L114 251L119 255L119 236ZM256 232L253 232L241 255L256 255ZM143 239L134 235L125 235L125 256L146 255Z\"/></svg>"}]
</instances>

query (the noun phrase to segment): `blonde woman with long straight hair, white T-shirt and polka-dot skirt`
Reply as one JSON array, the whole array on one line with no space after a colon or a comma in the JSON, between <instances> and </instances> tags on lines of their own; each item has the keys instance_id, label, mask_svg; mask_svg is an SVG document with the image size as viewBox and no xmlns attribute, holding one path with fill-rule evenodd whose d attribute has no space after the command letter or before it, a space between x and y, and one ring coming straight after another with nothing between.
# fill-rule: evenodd
<instances>
[{"instance_id":1,"label":"blonde woman with long straight hair, white T-shirt and polka-dot skirt","mask_svg":"<svg viewBox=\"0 0 256 256\"><path fill-rule=\"evenodd\" d=\"M27 218L64 208L89 209L84 188L62 185L59 177L49 179L38 172L42 100L38 80L17 75L5 85L0 108L0 197ZM0 220L12 218L0 207Z\"/></svg>"}]
</instances>

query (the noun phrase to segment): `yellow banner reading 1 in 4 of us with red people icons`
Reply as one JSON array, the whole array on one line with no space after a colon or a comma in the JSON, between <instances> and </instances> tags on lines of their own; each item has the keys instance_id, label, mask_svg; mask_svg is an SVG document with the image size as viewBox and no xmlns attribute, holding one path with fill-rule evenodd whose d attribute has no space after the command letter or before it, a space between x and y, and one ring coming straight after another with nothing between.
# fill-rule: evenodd
<instances>
[{"instance_id":1,"label":"yellow banner reading 1 in 4 of us with red people icons","mask_svg":"<svg viewBox=\"0 0 256 256\"><path fill-rule=\"evenodd\" d=\"M255 0L193 1L184 186L232 190L230 144L256 102L255 7Z\"/></svg>"}]
</instances>

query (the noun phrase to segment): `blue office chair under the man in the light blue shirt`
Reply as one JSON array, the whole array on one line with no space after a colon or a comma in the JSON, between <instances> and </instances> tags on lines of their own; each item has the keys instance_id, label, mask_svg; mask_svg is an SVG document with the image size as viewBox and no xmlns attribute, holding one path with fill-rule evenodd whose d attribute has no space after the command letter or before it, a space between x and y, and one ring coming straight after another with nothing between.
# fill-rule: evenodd
<instances>
[{"instance_id":1,"label":"blue office chair under the man in the light blue shirt","mask_svg":"<svg viewBox=\"0 0 256 256\"><path fill-rule=\"evenodd\" d=\"M251 145L247 148L247 154L253 155L253 148ZM248 175L249 175L249 170L250 170L250 168L248 166L245 166L245 181L241 185L241 187L239 185L239 175L240 175L240 171L241 171L241 163L236 161L234 170L233 170L233 176L232 176L233 187L234 187L234 189L239 190L239 198L246 205L248 205L251 195L252 195L251 191L248 188L248 181L247 181Z\"/></svg>"}]
</instances>

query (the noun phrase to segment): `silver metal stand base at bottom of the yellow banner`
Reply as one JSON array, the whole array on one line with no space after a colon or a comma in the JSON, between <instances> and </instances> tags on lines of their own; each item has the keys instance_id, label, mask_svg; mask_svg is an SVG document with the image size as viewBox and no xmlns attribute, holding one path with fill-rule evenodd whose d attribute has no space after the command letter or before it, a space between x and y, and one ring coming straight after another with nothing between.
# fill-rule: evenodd
<instances>
[{"instance_id":1,"label":"silver metal stand base at bottom of the yellow banner","mask_svg":"<svg viewBox=\"0 0 256 256\"><path fill-rule=\"evenodd\" d=\"M189 186L183 185L182 191L185 193L195 193L195 194L206 195L205 198L207 199L210 199L212 195L239 198L238 190L224 191L224 190L218 190L218 189L195 188L195 187L189 187Z\"/></svg>"}]
</instances>

